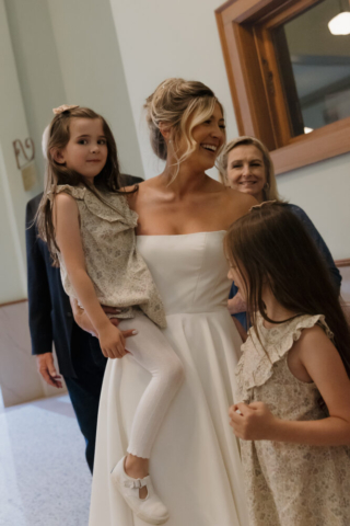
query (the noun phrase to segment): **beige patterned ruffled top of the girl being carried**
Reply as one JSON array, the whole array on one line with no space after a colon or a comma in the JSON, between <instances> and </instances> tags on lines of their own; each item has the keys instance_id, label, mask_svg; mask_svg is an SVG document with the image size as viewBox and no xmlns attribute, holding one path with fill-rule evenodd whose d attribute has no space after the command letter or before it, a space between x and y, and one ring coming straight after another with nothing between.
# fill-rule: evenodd
<instances>
[{"instance_id":1,"label":"beige patterned ruffled top of the girl being carried","mask_svg":"<svg viewBox=\"0 0 350 526\"><path fill-rule=\"evenodd\" d=\"M161 297L150 271L136 249L138 215L125 195L101 193L101 199L84 186L68 184L57 193L71 195L78 204L85 264L101 304L118 307L118 318L132 318L135 308L158 325L166 327ZM78 299L65 261L58 252L66 293Z\"/></svg>"}]
</instances>

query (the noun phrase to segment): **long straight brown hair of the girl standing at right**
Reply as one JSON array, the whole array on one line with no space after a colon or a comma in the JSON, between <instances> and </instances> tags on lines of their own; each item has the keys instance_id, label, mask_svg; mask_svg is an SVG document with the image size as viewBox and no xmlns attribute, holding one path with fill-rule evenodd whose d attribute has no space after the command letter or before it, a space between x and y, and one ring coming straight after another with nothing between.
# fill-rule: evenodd
<instances>
[{"instance_id":1,"label":"long straight brown hair of the girl standing at right","mask_svg":"<svg viewBox=\"0 0 350 526\"><path fill-rule=\"evenodd\" d=\"M256 313L271 323L262 301L268 285L277 301L295 315L324 315L350 377L350 328L327 266L301 220L285 204L266 203L234 222L224 250L247 293L250 322Z\"/></svg>"}]
</instances>

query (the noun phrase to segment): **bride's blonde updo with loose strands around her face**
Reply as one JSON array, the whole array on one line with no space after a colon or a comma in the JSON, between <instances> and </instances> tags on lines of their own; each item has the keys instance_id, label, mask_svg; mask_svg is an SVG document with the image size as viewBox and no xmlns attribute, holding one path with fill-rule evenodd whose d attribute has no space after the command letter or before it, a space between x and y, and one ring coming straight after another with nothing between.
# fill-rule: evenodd
<instances>
[{"instance_id":1,"label":"bride's blonde updo with loose strands around her face","mask_svg":"<svg viewBox=\"0 0 350 526\"><path fill-rule=\"evenodd\" d=\"M154 153L162 160L167 158L166 141L161 133L160 125L168 125L172 129L176 156L176 173L196 149L197 142L192 137L192 129L211 117L215 104L223 108L213 91L202 82L184 79L164 80L145 101L147 122L150 128L151 146ZM185 139L186 149L177 157L179 141Z\"/></svg>"}]
</instances>

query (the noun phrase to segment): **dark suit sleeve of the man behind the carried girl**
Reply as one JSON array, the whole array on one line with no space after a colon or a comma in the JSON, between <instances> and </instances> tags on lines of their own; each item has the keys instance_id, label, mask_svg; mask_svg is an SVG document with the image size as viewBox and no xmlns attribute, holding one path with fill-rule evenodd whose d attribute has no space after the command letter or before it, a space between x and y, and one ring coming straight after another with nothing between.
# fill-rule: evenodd
<instances>
[{"instance_id":1,"label":"dark suit sleeve of the man behind the carried girl","mask_svg":"<svg viewBox=\"0 0 350 526\"><path fill-rule=\"evenodd\" d=\"M25 215L26 262L32 354L52 352L51 299L45 260L33 225L36 210L30 202Z\"/></svg>"}]
</instances>

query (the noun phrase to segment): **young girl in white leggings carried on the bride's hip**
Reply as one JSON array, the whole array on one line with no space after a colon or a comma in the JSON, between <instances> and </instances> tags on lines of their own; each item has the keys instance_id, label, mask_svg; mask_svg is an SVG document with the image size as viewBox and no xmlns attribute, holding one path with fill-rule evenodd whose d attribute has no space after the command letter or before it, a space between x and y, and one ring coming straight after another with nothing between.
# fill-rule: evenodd
<instances>
[{"instance_id":1,"label":"young girl in white leggings carried on the bride's hip","mask_svg":"<svg viewBox=\"0 0 350 526\"><path fill-rule=\"evenodd\" d=\"M120 358L129 352L152 375L131 425L128 455L116 458L110 470L136 515L163 524L168 513L154 493L149 458L180 386L183 367L156 327L166 325L164 308L136 250L138 216L130 210L127 194L118 190L117 149L107 123L79 106L61 106L54 113L39 231L60 265L67 294L88 312L103 354ZM119 309L118 328L101 304ZM137 335L126 344L122 331L130 329L136 329Z\"/></svg>"}]
</instances>

